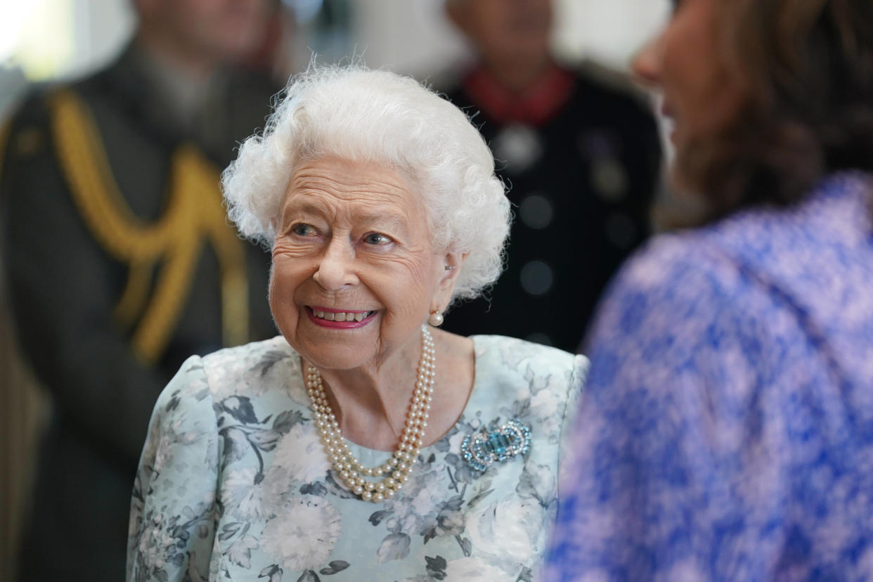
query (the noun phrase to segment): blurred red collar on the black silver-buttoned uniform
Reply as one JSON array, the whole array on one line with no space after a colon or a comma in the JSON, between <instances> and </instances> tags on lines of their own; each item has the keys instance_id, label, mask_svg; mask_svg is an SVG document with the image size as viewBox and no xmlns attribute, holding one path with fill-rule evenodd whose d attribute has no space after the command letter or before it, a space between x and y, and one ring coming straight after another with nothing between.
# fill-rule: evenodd
<instances>
[{"instance_id":1,"label":"blurred red collar on the black silver-buttoned uniform","mask_svg":"<svg viewBox=\"0 0 873 582\"><path fill-rule=\"evenodd\" d=\"M540 126L559 113L573 86L573 73L558 65L551 65L533 86L520 94L499 85L482 67L464 79L464 90L489 118L498 123L533 126Z\"/></svg>"}]
</instances>

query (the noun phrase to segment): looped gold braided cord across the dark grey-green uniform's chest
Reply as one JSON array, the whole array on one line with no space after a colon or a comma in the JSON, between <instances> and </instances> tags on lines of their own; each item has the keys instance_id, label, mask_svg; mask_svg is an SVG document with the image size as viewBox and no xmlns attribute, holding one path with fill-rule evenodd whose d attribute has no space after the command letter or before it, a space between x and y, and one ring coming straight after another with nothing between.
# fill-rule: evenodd
<instances>
[{"instance_id":1,"label":"looped gold braided cord across the dark grey-green uniform's chest","mask_svg":"<svg viewBox=\"0 0 873 582\"><path fill-rule=\"evenodd\" d=\"M70 91L56 92L51 104L54 140L73 201L101 246L130 269L114 315L129 326L142 312L132 337L134 353L147 363L161 357L207 241L216 249L221 270L224 343L246 341L244 243L225 221L217 170L194 147L179 147L172 160L168 208L155 223L145 223L124 201L85 104ZM149 276L156 265L160 270L149 298Z\"/></svg>"}]
</instances>

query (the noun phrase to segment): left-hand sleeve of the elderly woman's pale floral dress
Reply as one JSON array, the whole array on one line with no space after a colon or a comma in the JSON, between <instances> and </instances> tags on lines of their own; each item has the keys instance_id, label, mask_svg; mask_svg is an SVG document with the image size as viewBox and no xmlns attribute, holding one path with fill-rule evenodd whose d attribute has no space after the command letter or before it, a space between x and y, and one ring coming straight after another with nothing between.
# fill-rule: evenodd
<instances>
[{"instance_id":1,"label":"left-hand sleeve of the elderly woman's pale floral dress","mask_svg":"<svg viewBox=\"0 0 873 582\"><path fill-rule=\"evenodd\" d=\"M219 442L203 361L188 359L155 405L134 482L127 579L206 580Z\"/></svg>"}]
</instances>

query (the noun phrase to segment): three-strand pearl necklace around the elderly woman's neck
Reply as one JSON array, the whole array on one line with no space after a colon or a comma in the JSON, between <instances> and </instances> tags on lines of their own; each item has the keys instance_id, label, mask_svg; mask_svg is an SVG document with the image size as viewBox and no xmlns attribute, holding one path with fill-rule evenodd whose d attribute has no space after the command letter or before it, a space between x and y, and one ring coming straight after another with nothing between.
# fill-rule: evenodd
<instances>
[{"instance_id":1,"label":"three-strand pearl necklace around the elderly woman's neck","mask_svg":"<svg viewBox=\"0 0 873 582\"><path fill-rule=\"evenodd\" d=\"M412 393L400 445L387 462L371 468L365 467L352 455L340 432L340 423L327 401L321 373L315 367L307 366L306 387L313 405L315 426L319 428L327 459L333 466L334 475L339 476L348 490L361 496L361 499L379 503L393 496L409 479L409 471L423 445L424 428L428 426L435 373L434 341L428 328L423 326L422 355L418 359L416 389ZM382 478L370 481L367 477Z\"/></svg>"}]
</instances>

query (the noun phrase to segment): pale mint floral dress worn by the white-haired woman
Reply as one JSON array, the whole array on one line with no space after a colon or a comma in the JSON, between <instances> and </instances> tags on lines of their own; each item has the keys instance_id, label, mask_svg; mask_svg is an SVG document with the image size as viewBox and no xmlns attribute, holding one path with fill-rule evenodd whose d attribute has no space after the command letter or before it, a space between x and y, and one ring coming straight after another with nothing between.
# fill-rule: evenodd
<instances>
[{"instance_id":1,"label":"pale mint floral dress worn by the white-haired woman","mask_svg":"<svg viewBox=\"0 0 873 582\"><path fill-rule=\"evenodd\" d=\"M149 426L127 578L536 579L557 509L560 437L588 362L519 339L473 341L464 413L382 503L334 478L285 339L189 359ZM530 452L472 470L464 437L513 418L531 428ZM370 466L390 455L350 446Z\"/></svg>"}]
</instances>

